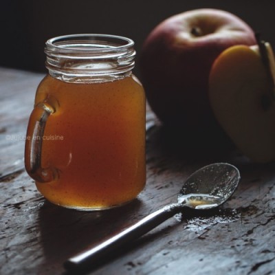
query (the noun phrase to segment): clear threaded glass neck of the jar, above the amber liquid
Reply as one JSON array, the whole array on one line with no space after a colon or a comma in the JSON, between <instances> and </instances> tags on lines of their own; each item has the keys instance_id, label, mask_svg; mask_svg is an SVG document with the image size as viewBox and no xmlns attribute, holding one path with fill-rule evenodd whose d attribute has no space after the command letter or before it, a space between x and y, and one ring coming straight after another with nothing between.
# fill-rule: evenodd
<instances>
[{"instance_id":1,"label":"clear threaded glass neck of the jar, above the amber liquid","mask_svg":"<svg viewBox=\"0 0 275 275\"><path fill-rule=\"evenodd\" d=\"M69 34L46 42L45 65L66 82L104 82L124 78L135 66L134 42L111 34Z\"/></svg>"}]
</instances>

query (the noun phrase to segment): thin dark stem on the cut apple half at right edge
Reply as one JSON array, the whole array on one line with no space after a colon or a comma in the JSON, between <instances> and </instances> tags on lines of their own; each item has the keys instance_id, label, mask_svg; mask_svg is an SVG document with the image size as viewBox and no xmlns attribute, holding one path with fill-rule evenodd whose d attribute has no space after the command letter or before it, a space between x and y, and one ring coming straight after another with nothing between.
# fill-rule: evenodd
<instances>
[{"instance_id":1,"label":"thin dark stem on the cut apple half at right edge","mask_svg":"<svg viewBox=\"0 0 275 275\"><path fill-rule=\"evenodd\" d=\"M259 46L259 52L261 55L261 59L263 61L263 65L265 67L265 71L267 73L267 78L271 87L271 96L273 98L273 100L275 100L275 83L274 83L274 79L272 77L272 70L270 67L270 60L268 58L268 54L267 54L267 48L265 47L265 41L263 41L261 39L261 34L260 33L255 33L255 38L256 38L256 42Z\"/></svg>"}]
</instances>

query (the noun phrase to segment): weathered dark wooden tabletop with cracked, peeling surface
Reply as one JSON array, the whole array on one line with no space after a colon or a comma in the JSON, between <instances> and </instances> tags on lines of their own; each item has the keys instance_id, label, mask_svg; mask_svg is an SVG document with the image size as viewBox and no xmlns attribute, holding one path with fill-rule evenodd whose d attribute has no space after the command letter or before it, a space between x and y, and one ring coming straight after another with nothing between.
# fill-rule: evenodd
<instances>
[{"instance_id":1,"label":"weathered dark wooden tabletop with cracked, peeling surface","mask_svg":"<svg viewBox=\"0 0 275 275\"><path fill-rule=\"evenodd\" d=\"M178 154L149 110L146 188L135 201L102 212L45 201L23 166L25 129L41 78L0 69L0 274L65 274L69 256L176 201L190 173L217 161L241 171L230 201L199 217L189 213L164 222L89 274L275 274L275 165L252 164L237 152Z\"/></svg>"}]
</instances>

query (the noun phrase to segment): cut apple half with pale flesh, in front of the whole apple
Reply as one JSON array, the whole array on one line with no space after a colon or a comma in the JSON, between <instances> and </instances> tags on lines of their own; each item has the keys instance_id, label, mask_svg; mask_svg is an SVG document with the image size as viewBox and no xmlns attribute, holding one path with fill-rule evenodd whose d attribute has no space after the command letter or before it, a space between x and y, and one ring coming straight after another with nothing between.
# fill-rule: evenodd
<instances>
[{"instance_id":1,"label":"cut apple half with pale flesh, in front of the whole apple","mask_svg":"<svg viewBox=\"0 0 275 275\"><path fill-rule=\"evenodd\" d=\"M274 54L264 43L274 79ZM272 83L272 85L271 85ZM212 111L225 133L252 162L275 160L274 83L259 46L232 46L212 65L209 78Z\"/></svg>"}]
</instances>

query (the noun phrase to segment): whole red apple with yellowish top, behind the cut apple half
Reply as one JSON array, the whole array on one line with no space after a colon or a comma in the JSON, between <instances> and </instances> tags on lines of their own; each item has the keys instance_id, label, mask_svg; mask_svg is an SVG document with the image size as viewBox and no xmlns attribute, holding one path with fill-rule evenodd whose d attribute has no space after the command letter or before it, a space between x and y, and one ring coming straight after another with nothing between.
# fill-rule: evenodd
<instances>
[{"instance_id":1,"label":"whole red apple with yellowish top, behind the cut apple half","mask_svg":"<svg viewBox=\"0 0 275 275\"><path fill-rule=\"evenodd\" d=\"M210 69L223 50L238 44L256 44L254 32L223 10L191 10L157 25L140 56L142 83L157 117L190 136L212 133L218 124L208 100Z\"/></svg>"}]
</instances>

